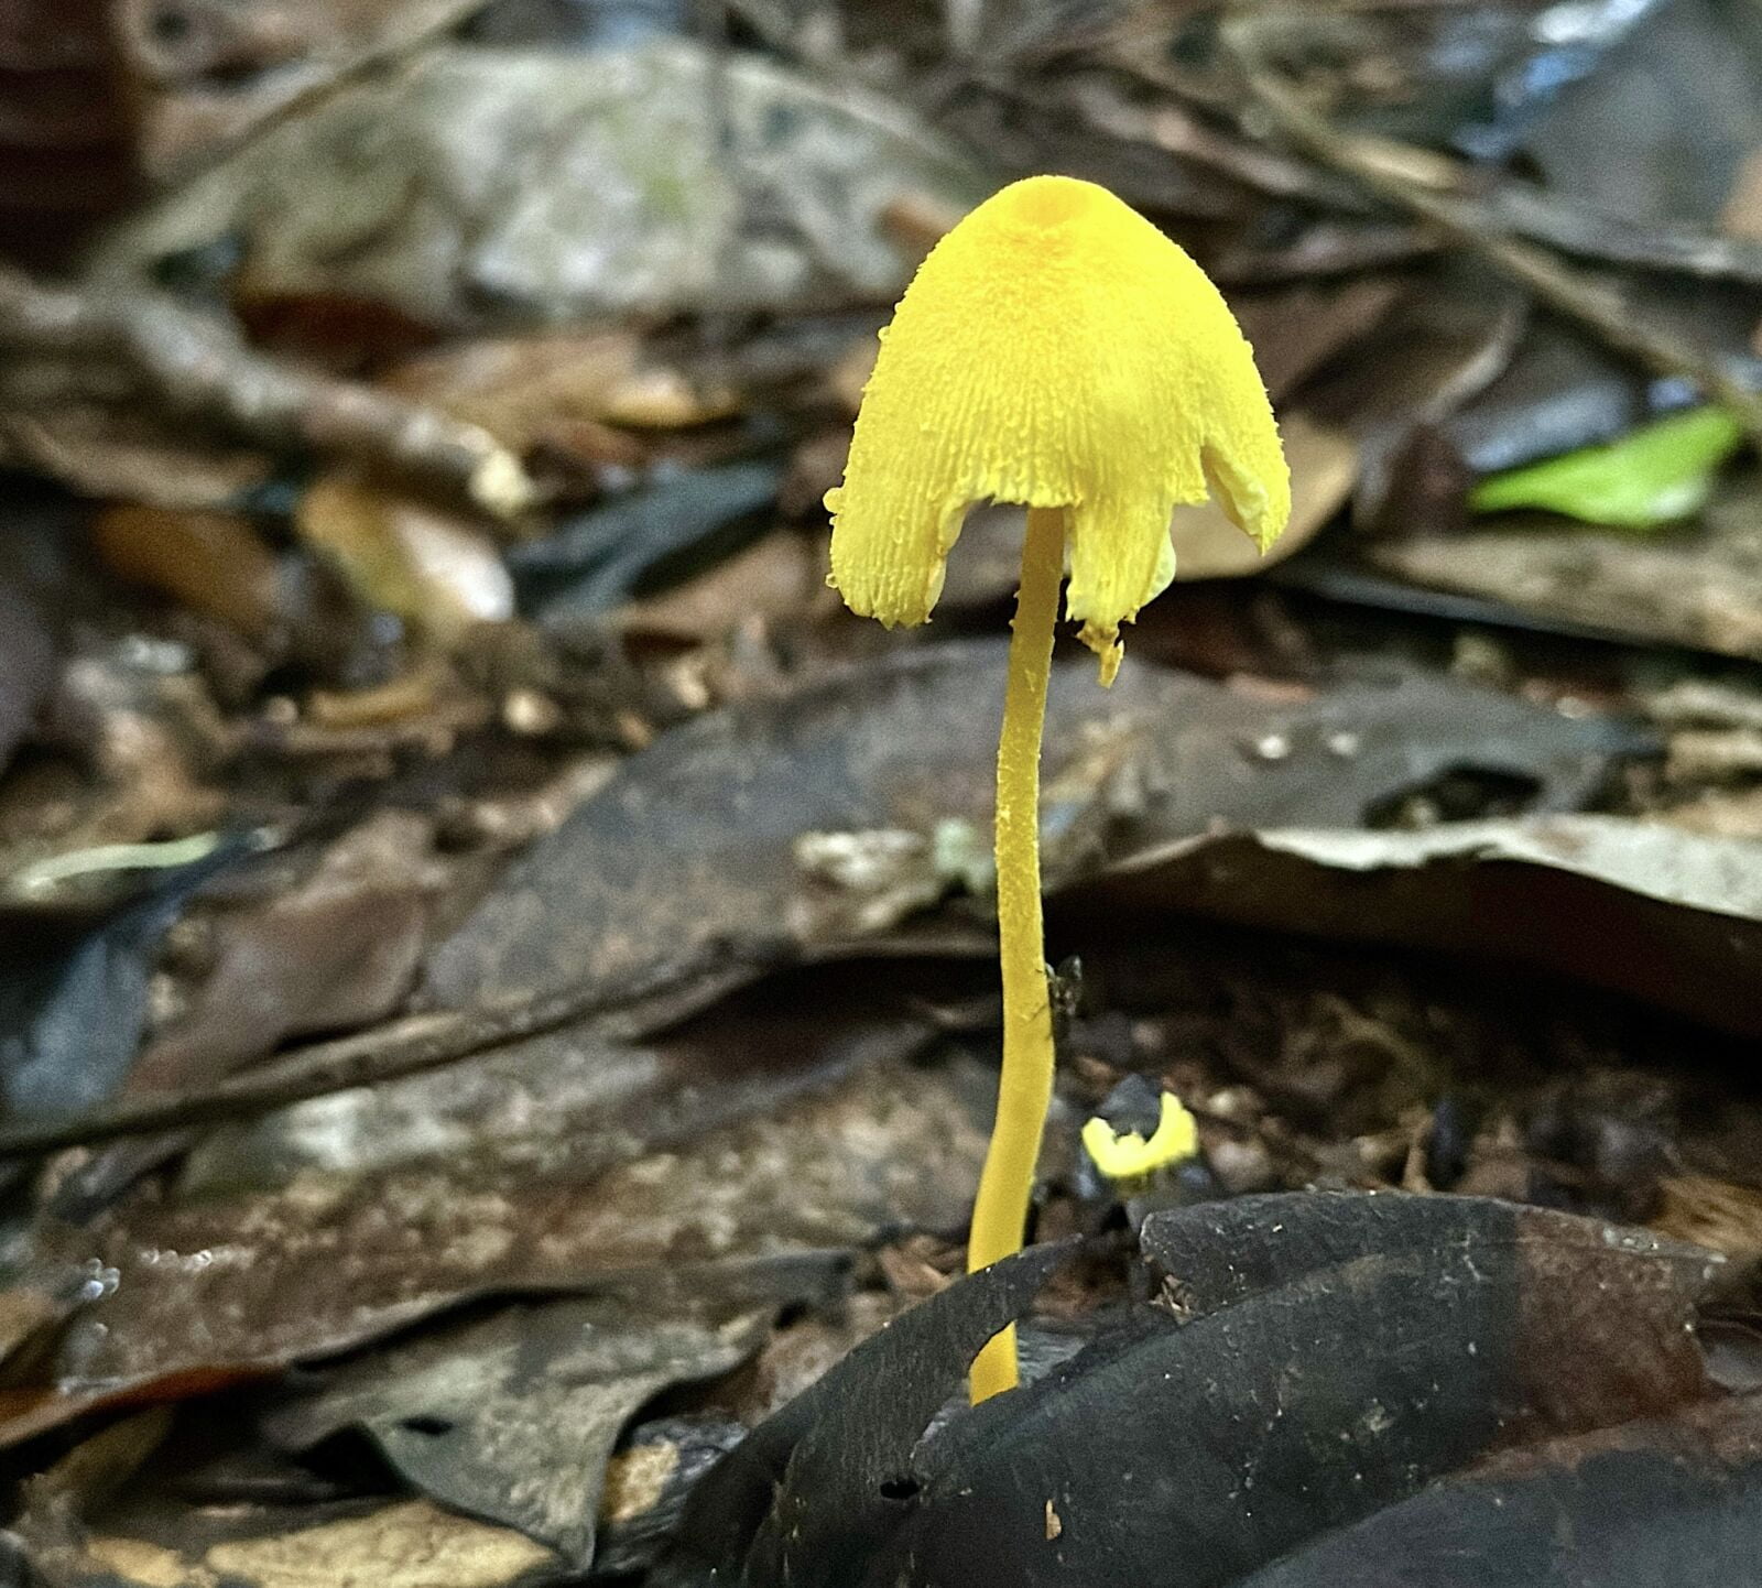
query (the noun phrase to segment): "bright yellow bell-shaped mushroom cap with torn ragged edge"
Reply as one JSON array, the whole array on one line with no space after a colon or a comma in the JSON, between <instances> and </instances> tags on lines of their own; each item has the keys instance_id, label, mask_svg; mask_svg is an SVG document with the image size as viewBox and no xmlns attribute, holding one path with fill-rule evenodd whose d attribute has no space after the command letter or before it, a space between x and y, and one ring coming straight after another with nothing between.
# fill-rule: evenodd
<instances>
[{"instance_id":1,"label":"bright yellow bell-shaped mushroom cap with torn ragged edge","mask_svg":"<svg viewBox=\"0 0 1762 1588\"><path fill-rule=\"evenodd\" d=\"M920 624L967 508L1070 509L1066 615L1119 664L1119 626L1175 573L1177 502L1218 497L1262 546L1290 474L1255 358L1205 273L1107 189L1031 176L950 231L881 333L832 582Z\"/></svg>"}]
</instances>

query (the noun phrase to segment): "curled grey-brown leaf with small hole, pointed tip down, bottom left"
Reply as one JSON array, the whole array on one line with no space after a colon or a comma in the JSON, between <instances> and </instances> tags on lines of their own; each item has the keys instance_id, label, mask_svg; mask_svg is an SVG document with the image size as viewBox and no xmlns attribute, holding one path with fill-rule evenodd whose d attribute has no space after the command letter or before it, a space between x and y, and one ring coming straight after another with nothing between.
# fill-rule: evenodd
<instances>
[{"instance_id":1,"label":"curled grey-brown leaf with small hole, pointed tip down, bottom left","mask_svg":"<svg viewBox=\"0 0 1762 1588\"><path fill-rule=\"evenodd\" d=\"M816 1299L825 1273L781 1273L795 1283L775 1301ZM715 1299L663 1285L509 1308L363 1357L266 1428L292 1449L359 1428L421 1493L520 1528L585 1570L606 1461L636 1408L726 1373L765 1338L775 1308L749 1295L747 1311L731 1311Z\"/></svg>"}]
</instances>

